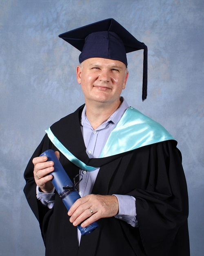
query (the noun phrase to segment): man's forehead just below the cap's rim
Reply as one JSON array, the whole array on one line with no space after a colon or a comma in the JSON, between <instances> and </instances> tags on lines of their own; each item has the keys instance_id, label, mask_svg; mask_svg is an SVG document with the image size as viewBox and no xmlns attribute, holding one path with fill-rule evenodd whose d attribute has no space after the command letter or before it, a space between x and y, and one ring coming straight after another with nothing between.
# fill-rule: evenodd
<instances>
[{"instance_id":1,"label":"man's forehead just below the cap's rim","mask_svg":"<svg viewBox=\"0 0 204 256\"><path fill-rule=\"evenodd\" d=\"M83 66L104 66L104 67L109 67L109 66L114 66L114 67L119 67L119 68L126 68L125 64L122 61L114 60L114 59L104 59L104 58L89 58L84 60Z\"/></svg>"}]
</instances>

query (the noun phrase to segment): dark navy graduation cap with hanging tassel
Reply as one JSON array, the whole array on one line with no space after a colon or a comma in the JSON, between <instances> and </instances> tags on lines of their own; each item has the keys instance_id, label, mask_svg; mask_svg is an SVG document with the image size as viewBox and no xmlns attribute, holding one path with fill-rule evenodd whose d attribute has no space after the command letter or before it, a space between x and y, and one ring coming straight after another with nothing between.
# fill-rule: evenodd
<instances>
[{"instance_id":1,"label":"dark navy graduation cap with hanging tassel","mask_svg":"<svg viewBox=\"0 0 204 256\"><path fill-rule=\"evenodd\" d=\"M144 49L142 101L147 96L147 47L113 18L101 20L59 35L81 51L79 62L89 58L122 61L127 67L126 53Z\"/></svg>"}]
</instances>

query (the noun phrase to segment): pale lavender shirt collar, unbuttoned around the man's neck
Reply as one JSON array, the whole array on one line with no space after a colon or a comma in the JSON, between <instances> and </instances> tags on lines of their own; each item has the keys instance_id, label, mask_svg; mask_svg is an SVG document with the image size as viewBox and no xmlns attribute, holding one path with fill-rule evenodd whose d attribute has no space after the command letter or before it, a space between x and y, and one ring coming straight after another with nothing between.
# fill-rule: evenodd
<instances>
[{"instance_id":1,"label":"pale lavender shirt collar, unbuttoned around the man's neck","mask_svg":"<svg viewBox=\"0 0 204 256\"><path fill-rule=\"evenodd\" d=\"M120 107L115 110L115 112L103 123L103 125L110 121L112 121L116 125L120 120L120 118L123 116L126 109L129 108L129 105L127 104L126 100L123 97L120 97L120 100L122 101L122 104L120 105ZM89 123L89 120L86 118L86 105L85 105L82 111L81 125L83 126L87 122Z\"/></svg>"}]
</instances>

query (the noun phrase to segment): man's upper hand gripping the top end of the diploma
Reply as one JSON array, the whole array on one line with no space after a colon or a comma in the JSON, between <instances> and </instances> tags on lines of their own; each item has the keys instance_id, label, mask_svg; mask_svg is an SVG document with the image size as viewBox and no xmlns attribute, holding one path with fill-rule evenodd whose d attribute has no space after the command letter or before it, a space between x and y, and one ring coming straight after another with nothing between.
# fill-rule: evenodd
<instances>
[{"instance_id":1,"label":"man's upper hand gripping the top end of the diploma","mask_svg":"<svg viewBox=\"0 0 204 256\"><path fill-rule=\"evenodd\" d=\"M60 158L60 153L55 151L55 155L57 158ZM44 193L50 193L54 186L51 183L52 175L49 175L50 172L54 170L53 161L47 162L47 156L39 156L33 158L34 170L33 175L35 179L35 183L38 185L40 190Z\"/></svg>"}]
</instances>

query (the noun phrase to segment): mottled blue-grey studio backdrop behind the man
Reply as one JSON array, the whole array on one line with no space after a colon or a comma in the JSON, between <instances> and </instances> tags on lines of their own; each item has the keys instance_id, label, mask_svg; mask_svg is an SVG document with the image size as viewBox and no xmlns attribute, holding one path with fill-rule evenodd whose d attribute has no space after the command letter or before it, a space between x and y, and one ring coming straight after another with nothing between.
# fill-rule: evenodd
<instances>
[{"instance_id":1,"label":"mottled blue-grey studio backdrop behind the man","mask_svg":"<svg viewBox=\"0 0 204 256\"><path fill-rule=\"evenodd\" d=\"M129 105L178 141L189 193L191 255L204 251L203 0L0 0L0 256L43 256L23 172L53 122L84 103L75 79L79 51L60 33L115 18L149 48L128 54Z\"/></svg>"}]
</instances>

